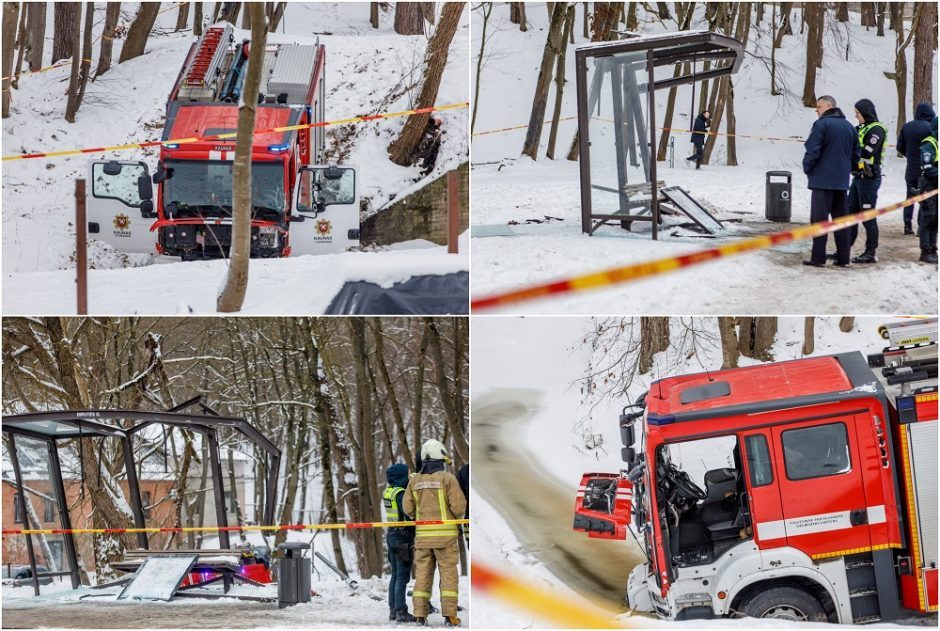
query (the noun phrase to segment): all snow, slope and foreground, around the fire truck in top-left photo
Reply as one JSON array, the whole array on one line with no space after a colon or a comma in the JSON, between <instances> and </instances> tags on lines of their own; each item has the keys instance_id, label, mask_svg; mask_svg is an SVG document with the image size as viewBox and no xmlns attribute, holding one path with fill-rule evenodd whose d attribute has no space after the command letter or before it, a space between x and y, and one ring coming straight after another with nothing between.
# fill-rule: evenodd
<instances>
[{"instance_id":1,"label":"all snow, slope and foreground, around the fire truck in top-left photo","mask_svg":"<svg viewBox=\"0 0 940 631\"><path fill-rule=\"evenodd\" d=\"M132 19L136 12L134 3L123 6L127 19ZM94 27L96 37L103 28L104 8L103 4L98 8L101 16L98 16ZM319 38L326 45L327 120L413 107L417 98L414 86L420 86L428 38L396 34L392 29L393 11L392 7L382 12L381 27L376 30L369 25L368 3L288 4L282 26L277 34L269 36L270 40L312 43ZM438 103L442 105L468 100L468 14L469 10L464 11L451 44L438 95ZM113 66L100 79L88 84L74 124L66 123L63 118L68 67L23 76L20 88L13 94L11 116L3 121L3 154L159 138L167 95L193 41L191 31L172 32L175 21L175 10L162 13L156 28L164 34L151 37L145 55ZM47 24L48 63L51 8ZM238 37L240 34L236 33ZM122 43L123 40L115 41L115 59L120 54ZM93 67L97 56L96 46ZM399 167L388 160L386 148L404 126L404 117L329 128L327 154L332 160L356 165L360 169L360 193L367 208L364 215L377 211L389 201L466 161L469 150L466 109L441 112L440 116L444 119L445 134L435 171L426 180L420 178L418 167ZM121 160L143 160L152 172L157 151L138 149L101 155ZM71 289L75 259L73 181L77 177L86 177L89 161L101 155L3 164L4 313L74 312ZM323 261L310 261L310 257L254 261L248 290L249 295L256 296L254 310L297 313L292 309L303 305L304 313L316 313L317 309L308 305L318 304L317 300L302 301L309 294L319 295L321 285L333 286L336 281L342 284L345 280L370 278L383 282L392 276L394 280L405 280L413 274L468 269L467 248L462 248L461 254L454 256L440 249L429 251L421 247L423 244L415 245L416 248L400 247L400 252L390 257L386 253L363 256L351 252L325 257L329 260ZM96 285L101 288L98 306L92 308L107 310L108 313L174 313L181 304L204 303L205 307L196 309L213 310L209 304L211 300L206 298L211 299L219 286L224 262L193 266L177 264L178 259L168 257L155 259L158 257L122 255L92 241L89 246L91 267L116 270L104 276L100 272L91 274L91 292L95 293ZM154 262L173 265L153 266ZM125 269L137 266L143 269ZM329 270L327 276L324 276L325 270ZM344 270L350 270L350 275L344 277ZM292 279L287 279L288 276ZM292 282L272 285L273 277ZM324 282L324 278L328 280ZM174 280L181 280L182 285L174 283ZM303 288L299 287L301 282L304 283ZM25 288L29 291L24 291ZM91 301L95 305L95 299ZM288 308L285 304L293 304L294 307ZM253 309L249 307L247 310Z\"/></svg>"}]
</instances>

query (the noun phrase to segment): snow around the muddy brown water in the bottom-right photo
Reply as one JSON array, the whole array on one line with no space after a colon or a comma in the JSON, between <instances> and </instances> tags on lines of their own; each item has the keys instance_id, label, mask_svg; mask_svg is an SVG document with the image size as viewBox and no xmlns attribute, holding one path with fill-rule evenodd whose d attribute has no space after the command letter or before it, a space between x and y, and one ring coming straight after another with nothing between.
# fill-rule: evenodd
<instances>
[{"instance_id":1,"label":"snow around the muddy brown water in the bottom-right photo","mask_svg":"<svg viewBox=\"0 0 940 631\"><path fill-rule=\"evenodd\" d=\"M688 321L689 319L684 319ZM814 355L830 355L846 351L863 353L881 350L885 343L878 334L879 324L887 318L858 318L855 328L849 333L839 330L838 318L816 319L816 348ZM564 507L573 516L575 494L582 473L586 471L618 471L620 460L620 436L618 415L621 407L648 389L650 382L667 375L701 372L721 366L721 348L718 343L716 319L699 321L698 350L689 351L681 343L684 327L673 320L671 328L672 347L654 358L652 370L638 375L622 399L604 401L589 410L583 401L583 378L591 358L591 348L584 343L585 335L592 330L591 318L552 317L490 317L474 318L471 332L471 383L473 384L471 410L474 432L474 463L476 465L471 489L473 505L473 557L503 572L508 572L535 587L553 590L559 598L581 602L586 596L599 596L596 591L586 591L593 577L584 571L584 577L566 583L560 578L561 571L553 571L552 552L554 541L541 545L526 546L529 533L513 527L516 519L543 520L551 509L531 515L512 515L500 512L489 501L494 489L487 487L481 469L488 467L488 453L503 446L481 449L478 436L485 428L477 424L487 406L495 403L525 406L529 413L522 423L503 423L504 447L520 452L520 470L537 467L547 472L551 483L564 487L568 504ZM803 318L779 318L779 328L773 355L777 360L801 357L803 343ZM512 358L507 361L507 358ZM759 363L742 357L741 365ZM619 378L614 375L613 379ZM682 446L680 458L693 476L698 469L708 468L704 463L713 460L705 451L692 446ZM717 465L722 466L722 465ZM698 479L700 479L700 475ZM517 480L524 484L524 480ZM528 488L528 487L526 487ZM533 525L532 528L535 528ZM564 530L559 530L555 539L565 540L571 534L570 521ZM605 553L604 544L611 542L589 540L587 535L577 533L585 541L596 546L596 556L613 556ZM635 545L631 541L620 545ZM580 562L591 559L578 559ZM596 561L596 559L595 559ZM571 563L570 565L575 565ZM561 568L568 571L568 568ZM630 568L610 567L609 572L624 576ZM529 628L551 625L550 617L535 617L528 612L509 607L486 595L481 590L473 594L473 626L475 628ZM695 621L689 623L665 623L646 617L620 616L624 624L639 624L642 627L718 628L733 626L747 629L754 626L773 628L785 626L780 621ZM936 619L927 620L935 625ZM789 626L789 625L786 625ZM892 625L884 625L892 626Z\"/></svg>"}]
</instances>

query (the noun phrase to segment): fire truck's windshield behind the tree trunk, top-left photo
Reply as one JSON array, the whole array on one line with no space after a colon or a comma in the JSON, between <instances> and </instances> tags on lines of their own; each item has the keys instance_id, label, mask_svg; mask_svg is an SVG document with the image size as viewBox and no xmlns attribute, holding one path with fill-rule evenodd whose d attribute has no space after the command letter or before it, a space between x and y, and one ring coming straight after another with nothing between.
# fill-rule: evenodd
<instances>
[{"instance_id":1,"label":"fire truck's windshield behind the tree trunk, top-left photo","mask_svg":"<svg viewBox=\"0 0 940 631\"><path fill-rule=\"evenodd\" d=\"M164 212L175 217L232 214L232 162L167 160L164 166L173 169L163 183ZM283 217L287 196L280 162L251 164L251 203L255 216Z\"/></svg>"}]
</instances>

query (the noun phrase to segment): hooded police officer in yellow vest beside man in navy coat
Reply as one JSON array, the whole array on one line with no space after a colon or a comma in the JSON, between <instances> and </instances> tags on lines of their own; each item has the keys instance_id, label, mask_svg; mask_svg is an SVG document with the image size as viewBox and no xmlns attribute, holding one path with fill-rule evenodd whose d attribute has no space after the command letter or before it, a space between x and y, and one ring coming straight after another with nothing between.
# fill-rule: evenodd
<instances>
[{"instance_id":1,"label":"hooded police officer in yellow vest beside man in navy coat","mask_svg":"<svg viewBox=\"0 0 940 631\"><path fill-rule=\"evenodd\" d=\"M849 214L877 208L878 189L881 188L881 165L885 157L885 138L888 128L878 121L875 105L868 99L855 104L855 118L858 119L858 146L861 159L852 171L852 185L849 187ZM865 226L865 251L852 259L853 263L877 263L875 251L878 249L878 219L869 219ZM849 228L851 244L858 238L858 224Z\"/></svg>"}]
</instances>

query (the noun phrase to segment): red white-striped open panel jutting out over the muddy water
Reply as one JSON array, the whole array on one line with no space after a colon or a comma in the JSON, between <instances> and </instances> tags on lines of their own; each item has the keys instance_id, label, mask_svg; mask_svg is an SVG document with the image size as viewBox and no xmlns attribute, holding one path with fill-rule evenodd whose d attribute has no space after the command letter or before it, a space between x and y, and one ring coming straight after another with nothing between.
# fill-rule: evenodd
<instances>
[{"instance_id":1,"label":"red white-striped open panel jutting out over the muddy water","mask_svg":"<svg viewBox=\"0 0 940 631\"><path fill-rule=\"evenodd\" d=\"M619 473L585 473L574 505L575 530L595 539L626 539L633 484Z\"/></svg>"}]
</instances>

